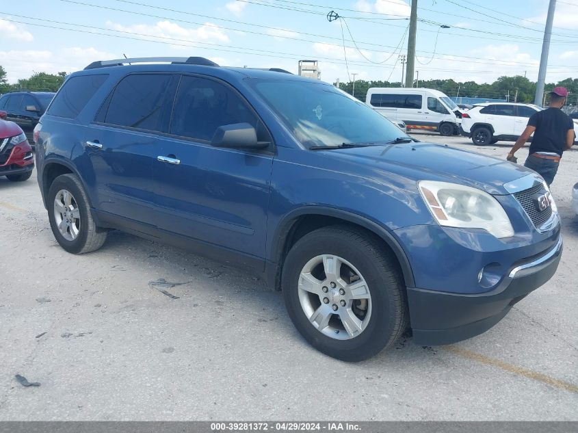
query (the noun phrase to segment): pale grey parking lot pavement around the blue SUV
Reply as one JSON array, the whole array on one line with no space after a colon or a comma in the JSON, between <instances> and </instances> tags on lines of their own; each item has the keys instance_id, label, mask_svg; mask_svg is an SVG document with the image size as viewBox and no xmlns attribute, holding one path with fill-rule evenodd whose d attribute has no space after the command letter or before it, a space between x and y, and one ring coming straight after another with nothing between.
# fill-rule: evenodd
<instances>
[{"instance_id":1,"label":"pale grey parking lot pavement around the blue SUV","mask_svg":"<svg viewBox=\"0 0 578 433\"><path fill-rule=\"evenodd\" d=\"M313 350L251 274L118 232L66 253L36 174L0 178L0 420L578 420L577 169L572 150L552 185L564 254L549 283L480 337L404 338L363 363Z\"/></svg>"}]
</instances>

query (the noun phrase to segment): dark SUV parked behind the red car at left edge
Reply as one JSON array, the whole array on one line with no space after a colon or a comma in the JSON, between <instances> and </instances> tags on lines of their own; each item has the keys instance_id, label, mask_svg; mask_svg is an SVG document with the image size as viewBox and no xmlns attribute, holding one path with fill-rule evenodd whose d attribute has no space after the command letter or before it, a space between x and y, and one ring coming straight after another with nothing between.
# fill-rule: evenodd
<instances>
[{"instance_id":1,"label":"dark SUV parked behind the red car at left edge","mask_svg":"<svg viewBox=\"0 0 578 433\"><path fill-rule=\"evenodd\" d=\"M10 92L0 96L0 109L8 113L8 120L23 129L34 146L32 131L46 111L55 92Z\"/></svg>"}]
</instances>

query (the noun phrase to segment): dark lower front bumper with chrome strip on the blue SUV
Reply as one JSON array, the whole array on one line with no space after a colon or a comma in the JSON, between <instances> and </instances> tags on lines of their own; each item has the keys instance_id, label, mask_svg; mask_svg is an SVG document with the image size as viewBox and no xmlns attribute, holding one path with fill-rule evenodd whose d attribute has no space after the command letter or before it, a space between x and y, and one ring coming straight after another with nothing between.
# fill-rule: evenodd
<instances>
[{"instance_id":1,"label":"dark lower front bumper with chrome strip on the blue SUV","mask_svg":"<svg viewBox=\"0 0 578 433\"><path fill-rule=\"evenodd\" d=\"M516 302L553 276L561 256L562 236L539 257L516 263L498 287L486 293L447 293L408 287L414 342L444 345L486 332Z\"/></svg>"}]
</instances>

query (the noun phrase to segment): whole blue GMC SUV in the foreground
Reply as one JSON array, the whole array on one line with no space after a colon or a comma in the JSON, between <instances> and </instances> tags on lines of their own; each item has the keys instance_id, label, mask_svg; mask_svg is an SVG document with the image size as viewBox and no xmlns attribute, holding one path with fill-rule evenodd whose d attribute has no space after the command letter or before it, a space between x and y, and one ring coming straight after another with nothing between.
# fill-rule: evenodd
<instances>
[{"instance_id":1,"label":"whole blue GMC SUV in the foreground","mask_svg":"<svg viewBox=\"0 0 578 433\"><path fill-rule=\"evenodd\" d=\"M419 345L480 334L562 253L535 172L417 142L284 70L94 62L66 79L35 137L64 250L96 250L116 228L248 267L283 291L311 345L342 360L406 328Z\"/></svg>"}]
</instances>

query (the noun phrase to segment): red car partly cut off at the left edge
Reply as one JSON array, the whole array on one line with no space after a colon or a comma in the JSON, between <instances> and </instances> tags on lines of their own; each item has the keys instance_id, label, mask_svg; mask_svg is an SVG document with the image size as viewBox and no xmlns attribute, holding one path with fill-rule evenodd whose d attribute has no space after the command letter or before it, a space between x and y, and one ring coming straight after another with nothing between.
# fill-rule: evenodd
<instances>
[{"instance_id":1,"label":"red car partly cut off at the left edge","mask_svg":"<svg viewBox=\"0 0 578 433\"><path fill-rule=\"evenodd\" d=\"M13 182L26 181L34 168L32 148L21 127L5 118L6 111L0 111L0 176Z\"/></svg>"}]
</instances>

